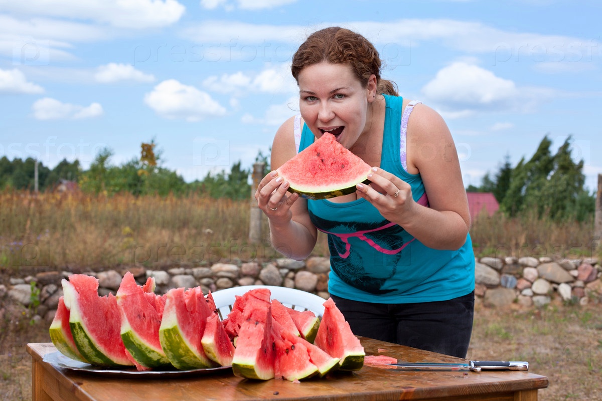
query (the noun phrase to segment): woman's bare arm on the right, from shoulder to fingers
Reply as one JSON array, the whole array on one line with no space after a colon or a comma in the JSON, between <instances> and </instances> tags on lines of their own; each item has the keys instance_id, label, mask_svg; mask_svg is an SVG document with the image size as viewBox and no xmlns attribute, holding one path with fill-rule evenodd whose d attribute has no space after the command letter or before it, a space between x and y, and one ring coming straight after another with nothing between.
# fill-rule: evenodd
<instances>
[{"instance_id":1,"label":"woman's bare arm on the right, from shoulder to fingers","mask_svg":"<svg viewBox=\"0 0 602 401\"><path fill-rule=\"evenodd\" d=\"M420 173L429 207L412 199L408 183L380 168L370 180L386 193L380 194L364 185L359 186L358 195L367 198L385 218L401 225L424 245L435 249L460 248L470 228L470 213L458 153L445 121L424 105L415 107L408 122L408 171ZM397 189L399 194L393 197Z\"/></svg>"}]
</instances>

